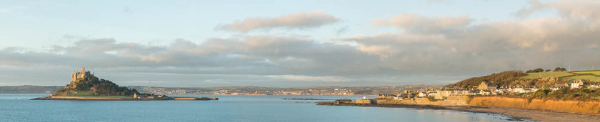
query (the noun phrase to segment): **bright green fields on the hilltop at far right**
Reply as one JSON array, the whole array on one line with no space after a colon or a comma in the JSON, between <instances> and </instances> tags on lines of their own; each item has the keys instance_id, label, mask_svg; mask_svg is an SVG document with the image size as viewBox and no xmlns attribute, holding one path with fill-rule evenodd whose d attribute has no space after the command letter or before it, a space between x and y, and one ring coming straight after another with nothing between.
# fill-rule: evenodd
<instances>
[{"instance_id":1,"label":"bright green fields on the hilltop at far right","mask_svg":"<svg viewBox=\"0 0 600 122\"><path fill-rule=\"evenodd\" d=\"M536 79L536 78L551 78L559 77L560 79L566 79L568 81L589 79L594 82L600 82L600 70L587 70L587 71L574 71L574 72L541 72L541 73L527 73L526 76L521 77L524 79Z\"/></svg>"}]
</instances>

